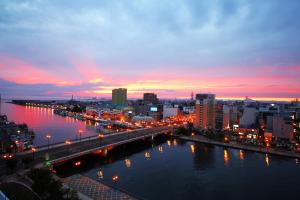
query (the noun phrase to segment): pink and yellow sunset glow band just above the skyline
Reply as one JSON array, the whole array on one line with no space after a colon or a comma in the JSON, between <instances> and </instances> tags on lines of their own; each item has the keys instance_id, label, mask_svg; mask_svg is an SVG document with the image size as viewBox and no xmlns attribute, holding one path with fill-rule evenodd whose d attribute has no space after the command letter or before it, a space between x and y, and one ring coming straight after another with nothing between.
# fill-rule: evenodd
<instances>
[{"instance_id":1,"label":"pink and yellow sunset glow band just above the skyline","mask_svg":"<svg viewBox=\"0 0 300 200\"><path fill-rule=\"evenodd\" d=\"M0 55L0 78L19 84L54 84L59 86L79 86L94 84L90 89L78 87L64 95L76 93L80 96L110 97L115 87L127 87L130 98L141 98L143 92L155 92L161 98L189 97L191 91L211 92L218 96L258 97L300 97L300 67L214 67L214 68L174 68L146 69L135 76L110 74L110 69L97 64L93 59L76 58L73 68L60 71L43 69L18 58ZM171 70L170 70L171 69ZM109 72L109 73L108 73ZM105 75L104 75L105 74ZM107 75L110 74L110 75ZM108 83L109 87L99 86ZM55 91L45 91L51 96Z\"/></svg>"}]
</instances>

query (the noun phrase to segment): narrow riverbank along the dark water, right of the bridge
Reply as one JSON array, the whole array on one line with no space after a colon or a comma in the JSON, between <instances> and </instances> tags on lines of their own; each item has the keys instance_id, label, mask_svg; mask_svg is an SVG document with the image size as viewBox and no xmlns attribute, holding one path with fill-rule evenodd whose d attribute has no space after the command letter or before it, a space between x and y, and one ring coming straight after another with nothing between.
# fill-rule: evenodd
<instances>
[{"instance_id":1,"label":"narrow riverbank along the dark water, right of the bridge","mask_svg":"<svg viewBox=\"0 0 300 200\"><path fill-rule=\"evenodd\" d=\"M182 140L187 140L187 141L200 142L200 143L218 145L218 146L229 147L229 148L234 148L234 149L241 149L241 150L246 150L246 151L254 151L254 152L259 152L259 153L266 153L266 154L272 154L272 155L277 155L277 156L285 156L285 157L289 157L289 158L300 159L300 154L295 153L295 152L278 151L278 150L274 150L274 149L270 149L270 148L253 147L253 146L246 146L246 145L241 145L241 144L218 142L218 141L204 138L203 136L199 136L199 135L179 136L179 138Z\"/></svg>"}]
</instances>

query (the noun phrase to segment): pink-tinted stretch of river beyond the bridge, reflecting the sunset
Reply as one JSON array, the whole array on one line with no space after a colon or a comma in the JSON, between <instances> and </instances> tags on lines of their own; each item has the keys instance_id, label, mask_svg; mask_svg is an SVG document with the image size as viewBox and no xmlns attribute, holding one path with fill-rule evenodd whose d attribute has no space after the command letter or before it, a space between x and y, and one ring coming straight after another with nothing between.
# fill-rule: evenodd
<instances>
[{"instance_id":1,"label":"pink-tinted stretch of river beyond the bridge, reflecting the sunset","mask_svg":"<svg viewBox=\"0 0 300 200\"><path fill-rule=\"evenodd\" d=\"M90 122L82 122L71 117L55 115L50 108L20 106L11 103L1 103L1 113L6 114L9 121L26 123L36 133L34 145L47 144L46 134L51 134L51 143L75 139L78 130L82 137L95 135L95 127Z\"/></svg>"}]
</instances>

